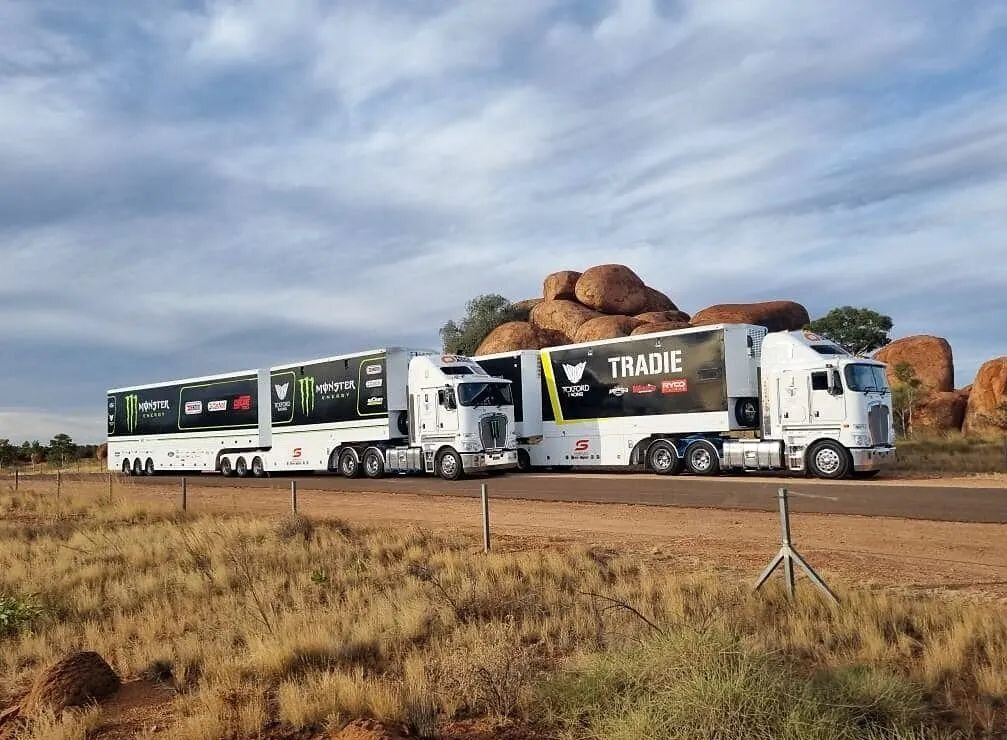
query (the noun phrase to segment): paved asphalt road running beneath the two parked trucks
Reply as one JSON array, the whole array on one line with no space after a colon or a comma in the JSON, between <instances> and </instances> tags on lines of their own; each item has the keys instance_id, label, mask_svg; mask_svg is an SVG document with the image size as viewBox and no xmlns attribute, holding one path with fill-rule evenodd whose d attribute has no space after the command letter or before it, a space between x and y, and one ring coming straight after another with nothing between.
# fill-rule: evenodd
<instances>
[{"instance_id":1,"label":"paved asphalt road running beneath the two parked trucks","mask_svg":"<svg viewBox=\"0 0 1007 740\"><path fill-rule=\"evenodd\" d=\"M900 516L945 522L1007 524L1007 487L991 481L989 487L919 483L819 481L805 478L674 478L646 474L512 474L447 482L433 477L392 477L347 480L335 475L296 477L307 490L382 491L431 495L478 495L479 483L490 495L542 501L639 503L699 508L775 510L776 490L786 486L804 494L792 499L792 510L814 513ZM137 478L139 484L164 485L172 478ZM238 480L217 475L190 478L207 486L267 486L281 490L290 478Z\"/></svg>"}]
</instances>

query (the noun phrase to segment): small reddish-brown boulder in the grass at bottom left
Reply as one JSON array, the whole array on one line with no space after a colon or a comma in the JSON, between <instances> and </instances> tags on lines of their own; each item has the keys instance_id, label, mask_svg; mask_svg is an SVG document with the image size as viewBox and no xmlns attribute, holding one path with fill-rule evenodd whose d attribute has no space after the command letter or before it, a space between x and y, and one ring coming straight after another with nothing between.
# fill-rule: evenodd
<instances>
[{"instance_id":1,"label":"small reddish-brown boulder in the grass at bottom left","mask_svg":"<svg viewBox=\"0 0 1007 740\"><path fill-rule=\"evenodd\" d=\"M21 713L56 715L108 699L122 686L116 672L97 652L76 652L45 669L21 704Z\"/></svg>"}]
</instances>

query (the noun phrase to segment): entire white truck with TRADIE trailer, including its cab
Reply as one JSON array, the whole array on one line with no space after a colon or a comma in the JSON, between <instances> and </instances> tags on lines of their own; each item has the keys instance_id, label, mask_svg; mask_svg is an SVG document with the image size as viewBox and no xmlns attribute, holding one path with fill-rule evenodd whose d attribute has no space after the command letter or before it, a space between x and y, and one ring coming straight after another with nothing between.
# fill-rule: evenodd
<instances>
[{"instance_id":1,"label":"entire white truck with TRADIE trailer, including its cab","mask_svg":"<svg viewBox=\"0 0 1007 740\"><path fill-rule=\"evenodd\" d=\"M884 364L806 331L719 324L476 357L511 380L519 467L877 473Z\"/></svg>"}]
</instances>

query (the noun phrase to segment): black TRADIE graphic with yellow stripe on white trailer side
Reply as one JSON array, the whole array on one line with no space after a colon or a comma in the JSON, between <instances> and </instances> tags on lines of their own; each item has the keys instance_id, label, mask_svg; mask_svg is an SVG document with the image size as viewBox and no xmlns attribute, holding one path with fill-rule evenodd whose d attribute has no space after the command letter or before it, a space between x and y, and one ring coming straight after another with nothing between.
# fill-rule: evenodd
<instances>
[{"instance_id":1,"label":"black TRADIE graphic with yellow stripe on white trailer side","mask_svg":"<svg viewBox=\"0 0 1007 740\"><path fill-rule=\"evenodd\" d=\"M727 410L721 329L543 350L558 423Z\"/></svg>"}]
</instances>

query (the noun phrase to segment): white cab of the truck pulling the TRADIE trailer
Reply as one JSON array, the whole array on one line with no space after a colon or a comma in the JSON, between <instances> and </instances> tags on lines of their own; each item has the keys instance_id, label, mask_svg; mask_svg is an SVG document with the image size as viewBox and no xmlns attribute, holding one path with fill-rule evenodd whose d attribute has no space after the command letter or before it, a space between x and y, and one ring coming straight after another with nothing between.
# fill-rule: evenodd
<instances>
[{"instance_id":1,"label":"white cab of the truck pulling the TRADIE trailer","mask_svg":"<svg viewBox=\"0 0 1007 740\"><path fill-rule=\"evenodd\" d=\"M785 466L823 478L869 476L894 458L885 365L811 331L762 341L761 437L781 440Z\"/></svg>"}]
</instances>

